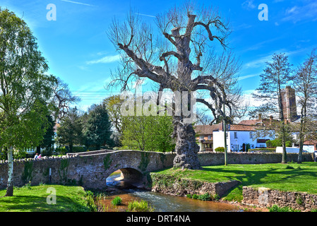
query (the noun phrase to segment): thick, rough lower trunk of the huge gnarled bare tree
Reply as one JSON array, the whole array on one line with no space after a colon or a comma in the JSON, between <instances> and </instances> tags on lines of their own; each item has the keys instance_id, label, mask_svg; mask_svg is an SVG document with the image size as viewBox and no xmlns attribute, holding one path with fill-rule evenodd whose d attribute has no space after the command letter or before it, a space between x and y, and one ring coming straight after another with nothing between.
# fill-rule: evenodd
<instances>
[{"instance_id":1,"label":"thick, rough lower trunk of the huge gnarled bare tree","mask_svg":"<svg viewBox=\"0 0 317 226\"><path fill-rule=\"evenodd\" d=\"M174 167L182 169L199 169L201 167L198 160L199 146L196 143L195 131L192 124L177 123L177 142L176 156L174 158Z\"/></svg>"}]
</instances>

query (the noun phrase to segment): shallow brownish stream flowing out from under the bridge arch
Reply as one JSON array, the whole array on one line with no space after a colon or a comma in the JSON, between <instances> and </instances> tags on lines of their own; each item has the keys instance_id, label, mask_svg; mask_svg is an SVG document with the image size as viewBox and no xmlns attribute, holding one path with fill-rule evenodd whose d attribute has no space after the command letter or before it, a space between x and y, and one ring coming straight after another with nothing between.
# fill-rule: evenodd
<instances>
[{"instance_id":1,"label":"shallow brownish stream flowing out from under the bridge arch","mask_svg":"<svg viewBox=\"0 0 317 226\"><path fill-rule=\"evenodd\" d=\"M120 182L120 173L116 172L107 179L108 186L121 187L113 195L102 200L102 205L107 211L126 211L128 202L137 200L148 201L155 211L161 212L241 212L243 210L227 203L213 201L200 201L192 198L169 196L152 191L145 191L136 188L128 188L126 182ZM121 206L112 207L111 201L116 196L122 199Z\"/></svg>"}]
</instances>

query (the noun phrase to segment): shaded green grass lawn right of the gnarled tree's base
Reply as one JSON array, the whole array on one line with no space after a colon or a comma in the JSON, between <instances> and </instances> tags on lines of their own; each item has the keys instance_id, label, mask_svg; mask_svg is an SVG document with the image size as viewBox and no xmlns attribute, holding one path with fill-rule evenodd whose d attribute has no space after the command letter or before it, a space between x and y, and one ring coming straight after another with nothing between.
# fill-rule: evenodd
<instances>
[{"instance_id":1,"label":"shaded green grass lawn right of the gnarled tree's base","mask_svg":"<svg viewBox=\"0 0 317 226\"><path fill-rule=\"evenodd\" d=\"M304 191L317 194L317 162L302 164L216 165L201 170L165 169L157 173L177 174L181 178L205 182L239 180L241 184L231 189L225 199L242 200L242 186L267 187L280 191Z\"/></svg>"}]
</instances>

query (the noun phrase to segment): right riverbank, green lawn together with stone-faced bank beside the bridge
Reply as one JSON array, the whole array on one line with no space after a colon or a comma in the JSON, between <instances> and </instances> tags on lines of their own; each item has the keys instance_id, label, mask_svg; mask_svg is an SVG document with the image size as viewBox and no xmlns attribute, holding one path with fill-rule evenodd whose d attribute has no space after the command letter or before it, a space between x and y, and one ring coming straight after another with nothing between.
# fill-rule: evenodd
<instances>
[{"instance_id":1,"label":"right riverbank, green lawn together with stone-faced bank beside the bridge","mask_svg":"<svg viewBox=\"0 0 317 226\"><path fill-rule=\"evenodd\" d=\"M265 187L277 191L317 194L317 162L302 164L258 164L258 165L218 165L202 167L199 170L165 169L153 173L152 182L155 190L172 195L186 195L193 191L201 193L205 183L237 181L239 184L221 194L222 201L239 203L243 200L243 187L254 189ZM164 176L164 177L163 177ZM160 179L158 179L160 178ZM186 181L191 181L189 184ZM213 192L213 190L210 190ZM174 194L173 194L174 193ZM214 194L215 195L215 194ZM302 208L301 208L302 209Z\"/></svg>"}]
</instances>

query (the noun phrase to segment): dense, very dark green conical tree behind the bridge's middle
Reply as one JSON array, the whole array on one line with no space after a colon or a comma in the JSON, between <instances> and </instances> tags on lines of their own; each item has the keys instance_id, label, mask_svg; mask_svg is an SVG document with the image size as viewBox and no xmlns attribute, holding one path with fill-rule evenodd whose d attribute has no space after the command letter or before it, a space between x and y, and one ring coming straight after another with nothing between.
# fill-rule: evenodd
<instances>
[{"instance_id":1,"label":"dense, very dark green conical tree behind the bridge's middle","mask_svg":"<svg viewBox=\"0 0 317 226\"><path fill-rule=\"evenodd\" d=\"M95 146L100 150L102 145L111 147L113 145L111 121L105 105L94 105L90 108L86 123L83 128L86 146Z\"/></svg>"}]
</instances>

